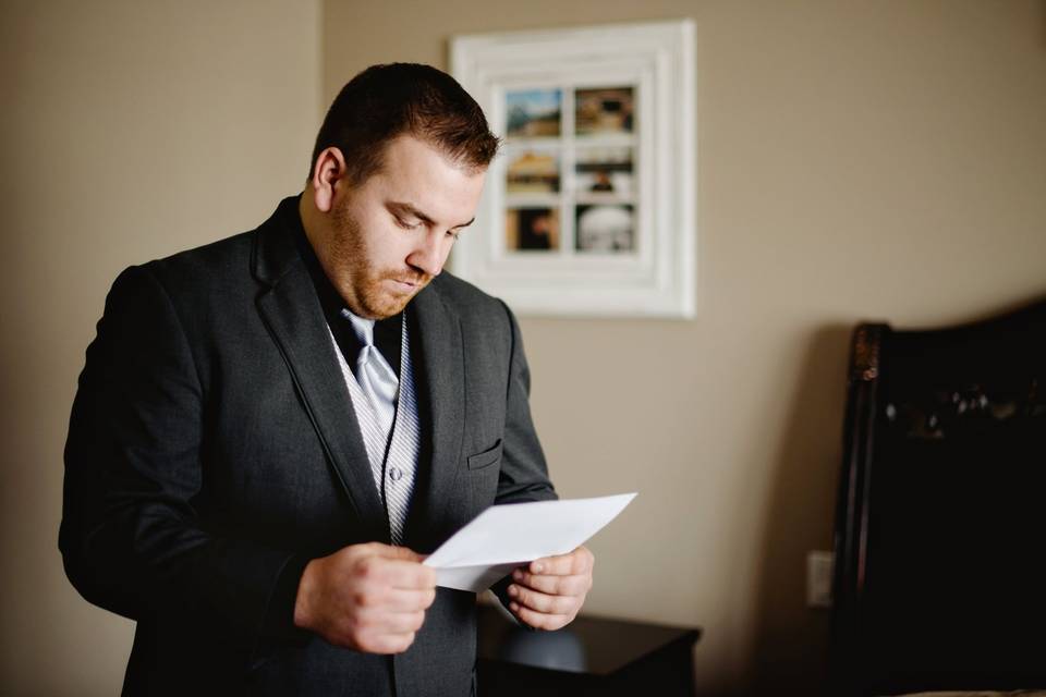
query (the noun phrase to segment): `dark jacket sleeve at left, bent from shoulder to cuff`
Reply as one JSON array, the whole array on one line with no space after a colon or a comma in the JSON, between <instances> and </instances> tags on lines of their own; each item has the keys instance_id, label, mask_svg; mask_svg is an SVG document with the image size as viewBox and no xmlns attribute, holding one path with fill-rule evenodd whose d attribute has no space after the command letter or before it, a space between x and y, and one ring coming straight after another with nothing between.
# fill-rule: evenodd
<instances>
[{"instance_id":1,"label":"dark jacket sleeve at left, bent from shoulder to cuff","mask_svg":"<svg viewBox=\"0 0 1046 697\"><path fill-rule=\"evenodd\" d=\"M131 619L191 613L247 644L293 635L288 599L273 596L289 592L301 560L212 535L198 515L206 396L166 290L148 266L127 269L106 299L70 418L65 572L88 601Z\"/></svg>"}]
</instances>

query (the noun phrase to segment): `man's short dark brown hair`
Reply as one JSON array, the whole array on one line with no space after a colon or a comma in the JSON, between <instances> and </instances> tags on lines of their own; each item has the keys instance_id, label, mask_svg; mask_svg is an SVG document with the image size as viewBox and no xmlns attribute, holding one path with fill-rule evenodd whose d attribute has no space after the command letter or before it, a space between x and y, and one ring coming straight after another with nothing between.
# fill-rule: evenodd
<instances>
[{"instance_id":1,"label":"man's short dark brown hair","mask_svg":"<svg viewBox=\"0 0 1046 697\"><path fill-rule=\"evenodd\" d=\"M372 65L335 98L316 136L316 158L336 147L345 157L349 181L362 184L381 167L385 146L413 135L462 167L483 170L498 150L483 109L458 81L430 65Z\"/></svg>"}]
</instances>

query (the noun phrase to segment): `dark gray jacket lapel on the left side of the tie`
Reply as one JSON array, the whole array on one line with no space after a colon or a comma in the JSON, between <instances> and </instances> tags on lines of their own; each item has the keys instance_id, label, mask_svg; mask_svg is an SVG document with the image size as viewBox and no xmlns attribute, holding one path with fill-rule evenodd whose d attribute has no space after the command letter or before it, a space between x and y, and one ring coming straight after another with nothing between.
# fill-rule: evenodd
<instances>
[{"instance_id":1,"label":"dark gray jacket lapel on the left side of the tie","mask_svg":"<svg viewBox=\"0 0 1046 697\"><path fill-rule=\"evenodd\" d=\"M258 296L258 313L279 345L349 501L367 527L366 537L388 542L385 509L374 486L327 320L294 246L294 231L281 224L281 217L297 215L296 209L284 208L290 200L284 200L258 231L255 276L268 286Z\"/></svg>"}]
</instances>

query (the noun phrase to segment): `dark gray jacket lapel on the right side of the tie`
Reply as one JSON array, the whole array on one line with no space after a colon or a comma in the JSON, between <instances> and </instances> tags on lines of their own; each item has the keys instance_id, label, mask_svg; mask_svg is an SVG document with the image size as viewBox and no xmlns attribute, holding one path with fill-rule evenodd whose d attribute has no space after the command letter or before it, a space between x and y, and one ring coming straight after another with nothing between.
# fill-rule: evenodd
<instances>
[{"instance_id":1,"label":"dark gray jacket lapel on the right side of the tie","mask_svg":"<svg viewBox=\"0 0 1046 697\"><path fill-rule=\"evenodd\" d=\"M427 548L449 527L445 519L454 500L465 421L465 355L458 316L442 302L435 284L418 293L411 305L417 326L411 342L417 342L422 357L415 367L415 382L422 386L423 414L429 416L427 425L423 421L428 447L422 452L430 457L427 476L418 478L414 491L405 539L417 545L417 551L430 551Z\"/></svg>"}]
</instances>

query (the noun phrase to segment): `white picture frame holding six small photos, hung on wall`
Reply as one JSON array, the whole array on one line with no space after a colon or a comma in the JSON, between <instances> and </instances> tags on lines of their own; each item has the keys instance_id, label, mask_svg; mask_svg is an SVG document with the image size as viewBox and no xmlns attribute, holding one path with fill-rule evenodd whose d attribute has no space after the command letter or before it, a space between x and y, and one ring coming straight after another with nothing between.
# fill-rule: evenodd
<instances>
[{"instance_id":1,"label":"white picture frame holding six small photos, hung on wall","mask_svg":"<svg viewBox=\"0 0 1046 697\"><path fill-rule=\"evenodd\" d=\"M452 270L523 315L693 317L693 35L454 37L452 72L503 145Z\"/></svg>"}]
</instances>

